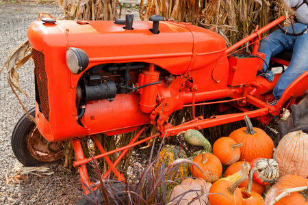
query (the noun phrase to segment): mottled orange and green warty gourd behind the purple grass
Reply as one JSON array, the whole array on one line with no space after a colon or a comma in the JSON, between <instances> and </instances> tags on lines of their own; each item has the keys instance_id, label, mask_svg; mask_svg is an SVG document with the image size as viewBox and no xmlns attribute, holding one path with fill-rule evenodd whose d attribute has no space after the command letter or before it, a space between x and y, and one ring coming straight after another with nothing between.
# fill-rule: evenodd
<instances>
[{"instance_id":1,"label":"mottled orange and green warty gourd behind the purple grass","mask_svg":"<svg viewBox=\"0 0 308 205\"><path fill-rule=\"evenodd\" d=\"M171 145L166 145L158 154L158 159L159 161L162 162L164 159L164 165L165 168L168 167L173 161L179 158L181 159L186 159L187 156L184 152L184 150L181 150L179 152L180 147L179 146L171 146ZM159 163L156 163L155 165L155 173L158 173L158 165ZM187 163L182 163L179 165L179 168L177 170L172 170L166 174L166 180L175 180L175 178L183 178L185 176L188 176L188 164ZM172 176L170 176L172 174Z\"/></svg>"}]
</instances>

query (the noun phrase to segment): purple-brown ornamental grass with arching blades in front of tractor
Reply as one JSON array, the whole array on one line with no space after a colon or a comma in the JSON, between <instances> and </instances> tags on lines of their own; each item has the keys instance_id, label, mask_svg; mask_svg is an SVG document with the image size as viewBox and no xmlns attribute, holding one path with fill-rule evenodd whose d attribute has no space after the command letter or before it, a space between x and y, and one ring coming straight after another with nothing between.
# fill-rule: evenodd
<instances>
[{"instance_id":1,"label":"purple-brown ornamental grass with arching blades in front of tractor","mask_svg":"<svg viewBox=\"0 0 308 205\"><path fill-rule=\"evenodd\" d=\"M159 150L162 149L163 144L164 139L159 145ZM152 145L150 156L153 156L154 147L155 140ZM149 159L151 159L151 157ZM156 163L158 169L155 169ZM79 198L81 197L82 199L79 200L79 198L77 198L76 201L79 200L77 204L81 205L89 202L92 204L168 204L168 195L170 191L183 180L183 178L173 178L173 176L177 176L179 166L183 163L191 163L201 170L201 167L190 159L177 159L166 167L164 159L159 161L157 154L156 158L153 161L150 160L146 167L132 165L132 173L123 172L125 175L125 182L119 182L118 180L112 180L110 178L101 178L100 168L93 159L92 166L94 172L96 172L96 178L94 179L96 182L93 186L97 186L97 190L92 191L91 188L93 187L86 187L86 184L83 184L84 187L86 187L85 190L90 191L90 193L86 195L84 192L79 191ZM100 184L103 185L100 186ZM197 190L190 189L182 193L179 197L173 199L172 203L177 204L186 193L195 191ZM192 201L198 200L199 197L201 197L201 195L195 197Z\"/></svg>"}]
</instances>

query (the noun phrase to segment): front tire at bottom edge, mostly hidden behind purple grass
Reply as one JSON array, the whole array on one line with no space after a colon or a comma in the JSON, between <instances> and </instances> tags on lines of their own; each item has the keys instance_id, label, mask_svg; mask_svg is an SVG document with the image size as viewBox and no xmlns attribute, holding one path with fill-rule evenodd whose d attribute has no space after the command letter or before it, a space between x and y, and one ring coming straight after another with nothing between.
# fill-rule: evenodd
<instances>
[{"instance_id":1,"label":"front tire at bottom edge, mostly hidden behind purple grass","mask_svg":"<svg viewBox=\"0 0 308 205\"><path fill-rule=\"evenodd\" d=\"M110 187L110 185L112 186L112 189L114 190L112 193L114 195L117 195L117 202L118 204L127 204L127 192L125 191L125 184L123 183L116 183L116 184L104 184L107 187ZM86 199L90 200L86 200ZM120 200L119 200L120 199ZM88 195L86 195L86 197L84 196L81 200L79 200L75 205L90 205L93 204L90 201L98 201L99 204L105 204L105 201L103 199L103 196L101 195L101 191L99 191L99 189L92 191L91 193L89 193ZM109 202L110 204L111 202ZM114 203L112 203L114 204Z\"/></svg>"}]
</instances>

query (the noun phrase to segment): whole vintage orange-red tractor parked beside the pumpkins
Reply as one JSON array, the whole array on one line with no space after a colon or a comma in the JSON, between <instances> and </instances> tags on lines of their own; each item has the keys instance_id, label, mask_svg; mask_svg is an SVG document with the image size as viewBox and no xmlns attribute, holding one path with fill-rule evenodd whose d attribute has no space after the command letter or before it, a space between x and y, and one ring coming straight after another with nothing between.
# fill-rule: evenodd
<instances>
[{"instance_id":1,"label":"whole vintage orange-red tractor parked beside the pumpkins","mask_svg":"<svg viewBox=\"0 0 308 205\"><path fill-rule=\"evenodd\" d=\"M264 54L257 52L261 33L283 20L285 16L227 48L217 33L162 16L134 22L131 15L115 21L42 18L28 30L36 86L36 107L29 113L36 123L26 115L19 120L12 135L14 154L26 166L55 161L61 154L55 144L69 140L81 182L90 186L86 164L92 159L84 157L82 137L92 137L102 153L94 159L104 157L110 166L103 177L114 172L123 180L115 165L129 148L157 136L237 122L245 115L266 125L282 108L292 110L281 126L282 135L307 131L308 72L287 87L274 106L269 102L281 74L271 83L257 76L264 64ZM252 42L251 53L235 51L247 42ZM285 59L273 61L287 65ZM195 115L196 106L218 104L223 110L226 102L238 113L207 119ZM192 107L194 119L172 126L169 116L183 107ZM136 142L150 124L159 133ZM127 146L110 152L96 137L138 128ZM108 154L122 150L110 161Z\"/></svg>"}]
</instances>

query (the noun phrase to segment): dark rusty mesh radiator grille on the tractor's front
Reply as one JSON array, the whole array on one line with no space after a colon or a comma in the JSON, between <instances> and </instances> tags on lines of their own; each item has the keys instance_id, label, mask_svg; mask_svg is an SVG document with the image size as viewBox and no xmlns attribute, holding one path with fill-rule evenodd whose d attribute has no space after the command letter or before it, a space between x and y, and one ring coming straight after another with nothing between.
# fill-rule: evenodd
<instances>
[{"instance_id":1,"label":"dark rusty mesh radiator grille on the tractor's front","mask_svg":"<svg viewBox=\"0 0 308 205\"><path fill-rule=\"evenodd\" d=\"M48 78L45 70L44 53L32 50L34 59L34 74L36 77L36 102L42 114L48 120L49 118L49 100L48 100Z\"/></svg>"}]
</instances>

